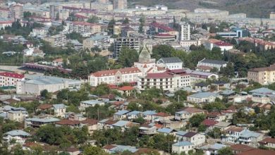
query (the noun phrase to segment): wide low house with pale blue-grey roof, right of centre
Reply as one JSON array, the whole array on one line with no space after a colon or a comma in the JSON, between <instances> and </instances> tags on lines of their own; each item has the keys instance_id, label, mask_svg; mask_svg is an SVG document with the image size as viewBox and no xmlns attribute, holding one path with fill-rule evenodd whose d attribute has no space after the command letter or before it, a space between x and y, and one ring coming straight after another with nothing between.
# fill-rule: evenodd
<instances>
[{"instance_id":1,"label":"wide low house with pale blue-grey roof, right of centre","mask_svg":"<svg viewBox=\"0 0 275 155\"><path fill-rule=\"evenodd\" d=\"M195 94L189 95L187 97L187 101L200 104L214 102L216 98L222 99L221 95L214 92L197 92Z\"/></svg>"}]
</instances>

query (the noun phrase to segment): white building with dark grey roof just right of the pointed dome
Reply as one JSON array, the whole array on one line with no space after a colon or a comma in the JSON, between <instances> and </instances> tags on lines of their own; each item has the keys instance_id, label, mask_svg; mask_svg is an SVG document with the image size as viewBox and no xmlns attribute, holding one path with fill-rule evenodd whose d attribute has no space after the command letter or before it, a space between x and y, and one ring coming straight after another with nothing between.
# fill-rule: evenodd
<instances>
[{"instance_id":1,"label":"white building with dark grey roof just right of the pointed dome","mask_svg":"<svg viewBox=\"0 0 275 155\"><path fill-rule=\"evenodd\" d=\"M168 68L169 70L182 69L183 61L178 57L160 58L157 61L157 66Z\"/></svg>"}]
</instances>

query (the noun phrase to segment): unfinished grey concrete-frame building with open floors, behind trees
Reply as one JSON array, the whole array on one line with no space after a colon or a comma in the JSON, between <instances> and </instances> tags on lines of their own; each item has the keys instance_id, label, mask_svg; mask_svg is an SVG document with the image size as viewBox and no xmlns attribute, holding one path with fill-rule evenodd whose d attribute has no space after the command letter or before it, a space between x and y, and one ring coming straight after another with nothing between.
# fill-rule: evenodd
<instances>
[{"instance_id":1,"label":"unfinished grey concrete-frame building with open floors, behind trees","mask_svg":"<svg viewBox=\"0 0 275 155\"><path fill-rule=\"evenodd\" d=\"M128 46L130 49L135 49L137 52L140 51L140 39L133 37L120 37L114 42L114 58L118 58L121 47Z\"/></svg>"}]
</instances>

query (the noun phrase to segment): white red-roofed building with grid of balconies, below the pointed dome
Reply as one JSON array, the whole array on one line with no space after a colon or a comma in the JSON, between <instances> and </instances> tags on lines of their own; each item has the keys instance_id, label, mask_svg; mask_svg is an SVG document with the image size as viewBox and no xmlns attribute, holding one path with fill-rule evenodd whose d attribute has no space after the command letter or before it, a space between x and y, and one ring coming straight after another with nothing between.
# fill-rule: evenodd
<instances>
[{"instance_id":1,"label":"white red-roofed building with grid of balconies, below the pointed dome","mask_svg":"<svg viewBox=\"0 0 275 155\"><path fill-rule=\"evenodd\" d=\"M138 89L140 91L153 87L162 89L164 92L173 92L173 75L169 73L147 73L147 75L139 77Z\"/></svg>"}]
</instances>

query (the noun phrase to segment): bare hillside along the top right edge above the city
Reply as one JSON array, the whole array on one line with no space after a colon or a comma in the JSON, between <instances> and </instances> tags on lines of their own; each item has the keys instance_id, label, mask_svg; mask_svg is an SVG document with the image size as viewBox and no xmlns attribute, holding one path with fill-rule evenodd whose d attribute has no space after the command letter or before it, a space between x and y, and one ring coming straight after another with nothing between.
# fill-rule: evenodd
<instances>
[{"instance_id":1,"label":"bare hillside along the top right edge above the city","mask_svg":"<svg viewBox=\"0 0 275 155\"><path fill-rule=\"evenodd\" d=\"M246 13L247 17L269 18L275 11L275 0L128 0L130 5L154 6L164 4L169 8L194 10L195 8L216 8L229 13Z\"/></svg>"}]
</instances>

